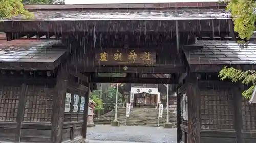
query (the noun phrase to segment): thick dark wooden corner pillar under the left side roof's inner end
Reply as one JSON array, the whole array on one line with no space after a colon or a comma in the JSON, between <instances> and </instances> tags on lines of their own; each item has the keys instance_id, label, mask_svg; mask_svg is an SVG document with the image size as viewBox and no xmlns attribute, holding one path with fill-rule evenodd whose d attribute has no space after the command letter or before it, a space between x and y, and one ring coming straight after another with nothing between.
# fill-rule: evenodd
<instances>
[{"instance_id":1,"label":"thick dark wooden corner pillar under the left side roof's inner end","mask_svg":"<svg viewBox=\"0 0 256 143\"><path fill-rule=\"evenodd\" d=\"M52 143L61 143L69 72L62 68L57 76L53 95Z\"/></svg>"}]
</instances>

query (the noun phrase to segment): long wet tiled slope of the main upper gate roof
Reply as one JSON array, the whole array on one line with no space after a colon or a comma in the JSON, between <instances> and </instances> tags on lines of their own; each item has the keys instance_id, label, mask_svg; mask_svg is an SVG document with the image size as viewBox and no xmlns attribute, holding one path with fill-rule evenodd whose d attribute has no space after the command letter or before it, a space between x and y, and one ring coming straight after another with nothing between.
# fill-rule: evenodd
<instances>
[{"instance_id":1,"label":"long wet tiled slope of the main upper gate roof","mask_svg":"<svg viewBox=\"0 0 256 143\"><path fill-rule=\"evenodd\" d=\"M179 10L56 10L35 11L33 19L20 16L4 21L93 21L93 20L201 20L230 19L225 9Z\"/></svg>"}]
</instances>

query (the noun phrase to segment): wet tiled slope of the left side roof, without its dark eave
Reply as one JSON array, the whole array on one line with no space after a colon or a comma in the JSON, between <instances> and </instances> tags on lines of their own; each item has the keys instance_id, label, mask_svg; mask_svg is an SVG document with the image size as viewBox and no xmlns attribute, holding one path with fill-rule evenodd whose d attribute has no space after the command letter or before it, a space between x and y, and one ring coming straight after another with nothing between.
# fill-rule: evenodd
<instances>
[{"instance_id":1,"label":"wet tiled slope of the left side roof, without its dark eave","mask_svg":"<svg viewBox=\"0 0 256 143\"><path fill-rule=\"evenodd\" d=\"M0 41L0 62L53 63L65 49L53 48L58 40L19 39Z\"/></svg>"}]
</instances>

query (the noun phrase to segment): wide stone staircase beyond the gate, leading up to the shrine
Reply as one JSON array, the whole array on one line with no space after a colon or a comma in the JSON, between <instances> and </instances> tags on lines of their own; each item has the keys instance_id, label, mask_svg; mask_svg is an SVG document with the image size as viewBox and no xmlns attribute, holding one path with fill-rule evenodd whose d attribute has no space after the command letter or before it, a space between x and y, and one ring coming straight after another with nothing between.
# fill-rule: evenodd
<instances>
[{"instance_id":1,"label":"wide stone staircase beyond the gate, leading up to the shrine","mask_svg":"<svg viewBox=\"0 0 256 143\"><path fill-rule=\"evenodd\" d=\"M159 126L163 126L166 122L166 109L163 110L163 118L159 118ZM115 111L112 110L105 115L95 118L95 124L110 124L115 118ZM158 109L155 108L132 108L130 117L126 118L125 122L125 108L118 108L117 120L120 125L127 126L152 126L158 127ZM173 110L169 110L169 122L173 123L173 126L177 126L177 116L173 113Z\"/></svg>"}]
</instances>

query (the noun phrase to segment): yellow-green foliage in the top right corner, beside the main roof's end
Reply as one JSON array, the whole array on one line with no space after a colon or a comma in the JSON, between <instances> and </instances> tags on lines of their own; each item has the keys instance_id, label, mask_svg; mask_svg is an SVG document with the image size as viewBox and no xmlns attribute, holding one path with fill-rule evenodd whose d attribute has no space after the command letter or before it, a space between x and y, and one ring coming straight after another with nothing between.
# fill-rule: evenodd
<instances>
[{"instance_id":1,"label":"yellow-green foliage in the top right corner, beside the main roof's end","mask_svg":"<svg viewBox=\"0 0 256 143\"><path fill-rule=\"evenodd\" d=\"M222 0L223 1L223 0ZM255 0L224 0L228 3L227 10L230 11L234 21L234 31L239 37L249 40L255 31L256 1Z\"/></svg>"}]
</instances>

